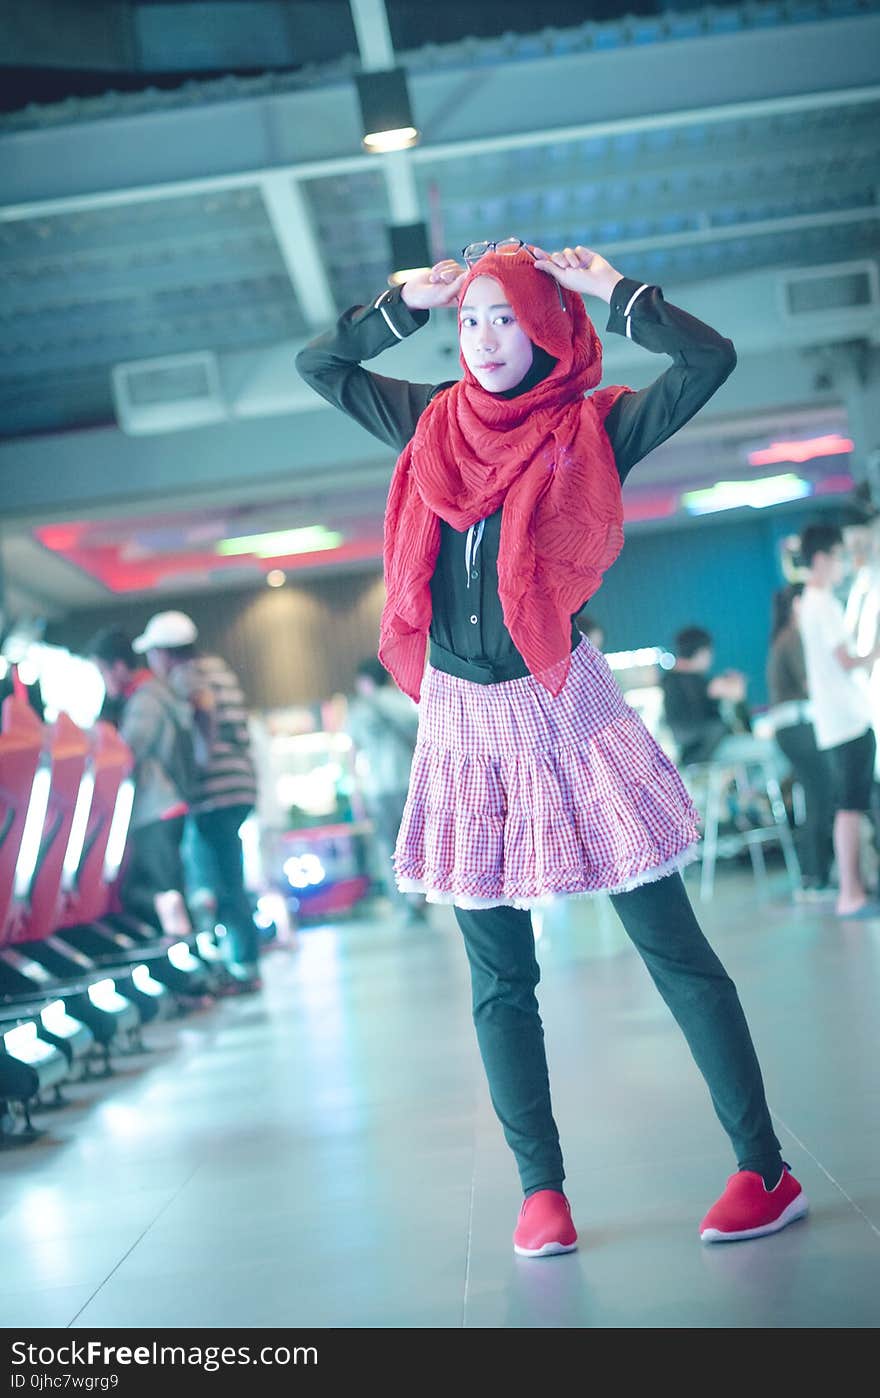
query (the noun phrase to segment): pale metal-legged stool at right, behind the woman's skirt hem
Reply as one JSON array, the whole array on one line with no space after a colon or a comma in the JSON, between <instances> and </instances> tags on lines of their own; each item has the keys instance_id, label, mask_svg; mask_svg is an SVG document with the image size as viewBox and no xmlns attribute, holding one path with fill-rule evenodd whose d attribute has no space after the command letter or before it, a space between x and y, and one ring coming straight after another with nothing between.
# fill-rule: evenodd
<instances>
[{"instance_id":1,"label":"pale metal-legged stool at right, behind the woman's skirt hem","mask_svg":"<svg viewBox=\"0 0 880 1398\"><path fill-rule=\"evenodd\" d=\"M701 902L707 903L712 898L718 860L740 854L746 849L751 858L755 882L764 892L767 889L764 846L769 842L778 843L782 849L792 892L800 888L800 863L779 788L776 765L772 759L754 756L741 762L693 762L681 769L681 779L702 821L702 840L698 851ZM721 833L725 798L730 787L736 791L740 808L748 804L750 798L765 800L771 821L767 825Z\"/></svg>"}]
</instances>

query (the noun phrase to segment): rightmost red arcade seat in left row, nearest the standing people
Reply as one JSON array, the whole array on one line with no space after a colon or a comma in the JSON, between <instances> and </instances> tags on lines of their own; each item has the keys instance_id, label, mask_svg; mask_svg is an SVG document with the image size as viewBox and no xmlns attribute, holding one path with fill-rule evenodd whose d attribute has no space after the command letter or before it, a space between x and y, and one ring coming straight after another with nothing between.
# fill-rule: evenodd
<instances>
[{"instance_id":1,"label":"rightmost red arcade seat in left row, nearest the standing people","mask_svg":"<svg viewBox=\"0 0 880 1398\"><path fill-rule=\"evenodd\" d=\"M109 723L97 723L90 737L91 756L84 783L87 790L90 779L94 786L88 823L84 832L74 829L67 850L59 927L94 923L111 910L112 885L132 812L132 786L127 781L133 763L130 748ZM74 849L74 844L78 847Z\"/></svg>"}]
</instances>

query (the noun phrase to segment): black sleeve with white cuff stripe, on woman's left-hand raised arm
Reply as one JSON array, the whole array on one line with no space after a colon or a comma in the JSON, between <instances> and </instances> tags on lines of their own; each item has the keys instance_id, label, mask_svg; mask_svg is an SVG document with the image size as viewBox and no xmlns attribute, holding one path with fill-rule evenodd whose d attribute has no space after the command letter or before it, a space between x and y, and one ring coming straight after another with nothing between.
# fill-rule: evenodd
<instances>
[{"instance_id":1,"label":"black sleeve with white cuff stripe, on woman's left-hand raised arm","mask_svg":"<svg viewBox=\"0 0 880 1398\"><path fill-rule=\"evenodd\" d=\"M333 330L299 351L297 369L334 408L341 408L381 442L402 450L435 386L369 373L361 368L361 361L404 340L427 319L427 310L409 309L400 299L399 287L386 291L371 306L346 310Z\"/></svg>"}]
</instances>

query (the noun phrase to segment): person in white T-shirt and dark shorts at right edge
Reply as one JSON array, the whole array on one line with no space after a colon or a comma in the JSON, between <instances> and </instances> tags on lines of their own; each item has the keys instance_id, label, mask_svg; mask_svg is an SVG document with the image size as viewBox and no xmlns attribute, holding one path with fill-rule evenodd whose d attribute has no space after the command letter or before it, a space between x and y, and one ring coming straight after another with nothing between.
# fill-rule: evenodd
<instances>
[{"instance_id":1,"label":"person in white T-shirt and dark shorts at right edge","mask_svg":"<svg viewBox=\"0 0 880 1398\"><path fill-rule=\"evenodd\" d=\"M876 643L858 654L835 587L844 577L844 535L835 524L809 524L800 535L809 569L800 603L800 636L813 705L817 747L828 754L837 814L834 853L839 917L880 917L862 877L862 816L870 811L877 741L872 723L867 674Z\"/></svg>"}]
</instances>

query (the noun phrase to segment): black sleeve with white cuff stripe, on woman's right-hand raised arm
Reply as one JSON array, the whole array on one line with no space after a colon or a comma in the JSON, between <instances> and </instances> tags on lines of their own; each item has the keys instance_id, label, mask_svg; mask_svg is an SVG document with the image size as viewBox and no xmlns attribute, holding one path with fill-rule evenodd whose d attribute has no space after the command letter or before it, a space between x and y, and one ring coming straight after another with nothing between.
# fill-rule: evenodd
<instances>
[{"instance_id":1,"label":"black sleeve with white cuff stripe, on woman's right-hand raised arm","mask_svg":"<svg viewBox=\"0 0 880 1398\"><path fill-rule=\"evenodd\" d=\"M669 305L659 287L642 287L628 277L611 292L606 331L673 361L646 389L621 394L604 421L624 481L637 461L684 426L721 389L736 366L736 350L711 326Z\"/></svg>"}]
</instances>

